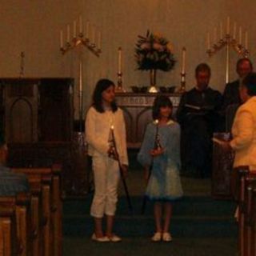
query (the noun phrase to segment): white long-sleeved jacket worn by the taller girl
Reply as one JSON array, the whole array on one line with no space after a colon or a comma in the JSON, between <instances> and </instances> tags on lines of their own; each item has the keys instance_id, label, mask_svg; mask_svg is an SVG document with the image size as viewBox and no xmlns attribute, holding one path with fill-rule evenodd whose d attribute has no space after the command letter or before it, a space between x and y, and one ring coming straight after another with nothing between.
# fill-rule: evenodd
<instances>
[{"instance_id":1,"label":"white long-sleeved jacket worn by the taller girl","mask_svg":"<svg viewBox=\"0 0 256 256\"><path fill-rule=\"evenodd\" d=\"M109 150L110 127L114 126L114 138L122 164L128 165L126 146L126 126L122 110L112 112L106 110L99 113L90 107L86 114L86 142L88 143L88 154L90 156L102 154L107 155Z\"/></svg>"}]
</instances>

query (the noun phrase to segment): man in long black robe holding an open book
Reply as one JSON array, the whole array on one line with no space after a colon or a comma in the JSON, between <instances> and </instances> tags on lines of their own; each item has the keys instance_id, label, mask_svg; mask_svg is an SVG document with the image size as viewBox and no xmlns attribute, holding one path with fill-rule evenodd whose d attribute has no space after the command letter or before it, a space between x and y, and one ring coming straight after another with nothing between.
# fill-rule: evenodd
<instances>
[{"instance_id":1,"label":"man in long black robe holding an open book","mask_svg":"<svg viewBox=\"0 0 256 256\"><path fill-rule=\"evenodd\" d=\"M209 177L212 136L218 129L222 94L208 86L210 66L201 63L195 70L196 86L182 95L177 119L182 128L182 173Z\"/></svg>"}]
</instances>

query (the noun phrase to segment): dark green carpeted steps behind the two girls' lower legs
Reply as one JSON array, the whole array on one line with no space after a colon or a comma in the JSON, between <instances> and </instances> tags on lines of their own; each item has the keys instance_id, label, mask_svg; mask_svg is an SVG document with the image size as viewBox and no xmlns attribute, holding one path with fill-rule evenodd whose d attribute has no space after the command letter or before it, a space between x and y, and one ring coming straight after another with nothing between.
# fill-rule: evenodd
<instances>
[{"instance_id":1,"label":"dark green carpeted steps behind the two girls' lower legs","mask_svg":"<svg viewBox=\"0 0 256 256\"><path fill-rule=\"evenodd\" d=\"M63 206L63 234L90 236L93 219L90 217L92 196L85 200L65 201ZM124 237L148 237L154 232L153 204L147 202L146 213L141 214L142 198L132 197L134 214L130 214L126 198L119 198L114 230ZM234 222L235 204L210 197L184 197L175 202L171 232L180 238L235 238L238 234Z\"/></svg>"}]
</instances>

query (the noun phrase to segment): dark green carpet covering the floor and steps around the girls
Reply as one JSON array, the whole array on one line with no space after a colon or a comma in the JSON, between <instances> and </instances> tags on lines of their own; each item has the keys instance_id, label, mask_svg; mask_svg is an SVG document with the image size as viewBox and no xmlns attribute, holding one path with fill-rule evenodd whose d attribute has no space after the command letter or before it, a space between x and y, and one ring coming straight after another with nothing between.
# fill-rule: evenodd
<instances>
[{"instance_id":1,"label":"dark green carpet covering the floor and steps around the girls","mask_svg":"<svg viewBox=\"0 0 256 256\"><path fill-rule=\"evenodd\" d=\"M141 167L133 162L126 180L134 213L131 215L120 186L114 232L122 242L97 243L90 239L92 194L80 200L66 200L63 205L63 256L231 256L238 251L238 227L234 222L235 204L211 198L210 179L182 177L185 196L174 203L170 231L173 242L151 242L154 233L152 203L141 214L145 186Z\"/></svg>"}]
</instances>

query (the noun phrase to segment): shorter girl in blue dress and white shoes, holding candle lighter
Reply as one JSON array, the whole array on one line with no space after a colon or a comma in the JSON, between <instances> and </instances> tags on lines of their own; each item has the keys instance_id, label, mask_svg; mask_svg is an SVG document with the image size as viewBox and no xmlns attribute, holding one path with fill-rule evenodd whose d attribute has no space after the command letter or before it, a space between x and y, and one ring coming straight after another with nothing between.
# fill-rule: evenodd
<instances>
[{"instance_id":1,"label":"shorter girl in blue dress and white shoes, holding candle lighter","mask_svg":"<svg viewBox=\"0 0 256 256\"><path fill-rule=\"evenodd\" d=\"M138 162L146 173L146 197L154 201L155 233L152 241L170 242L172 202L182 197L180 170L180 127L171 119L170 98L158 96L154 100L153 118L138 153ZM162 223L162 216L164 216Z\"/></svg>"}]
</instances>

